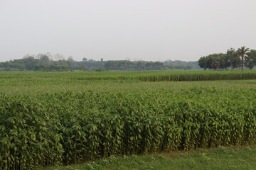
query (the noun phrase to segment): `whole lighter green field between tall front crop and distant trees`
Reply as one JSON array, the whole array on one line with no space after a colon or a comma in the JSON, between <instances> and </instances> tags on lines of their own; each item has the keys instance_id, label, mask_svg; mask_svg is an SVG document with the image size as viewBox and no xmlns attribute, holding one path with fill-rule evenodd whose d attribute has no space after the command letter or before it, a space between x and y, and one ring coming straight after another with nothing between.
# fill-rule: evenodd
<instances>
[{"instance_id":1,"label":"whole lighter green field between tall front crop and distant trees","mask_svg":"<svg viewBox=\"0 0 256 170\"><path fill-rule=\"evenodd\" d=\"M177 77L188 81L177 81ZM247 76L241 76L247 75ZM173 77L171 80L170 77ZM195 80L189 81L194 77ZM227 77L229 77L227 80ZM204 79L203 79L204 78ZM209 81L213 79L216 81ZM245 79L240 81L240 79ZM0 72L0 92L34 96L38 93L94 91L133 93L180 91L193 87L255 89L256 70L171 72ZM158 80L158 81L156 81Z\"/></svg>"}]
</instances>

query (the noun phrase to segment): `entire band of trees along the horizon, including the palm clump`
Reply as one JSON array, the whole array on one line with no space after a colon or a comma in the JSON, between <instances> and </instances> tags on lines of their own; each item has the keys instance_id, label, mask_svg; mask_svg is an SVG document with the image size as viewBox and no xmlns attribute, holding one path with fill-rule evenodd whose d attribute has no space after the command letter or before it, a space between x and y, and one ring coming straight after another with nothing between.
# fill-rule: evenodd
<instances>
[{"instance_id":1,"label":"entire band of trees along the horizon, including the palm clump","mask_svg":"<svg viewBox=\"0 0 256 170\"><path fill-rule=\"evenodd\" d=\"M55 60L53 60L55 58ZM146 71L146 70L171 70L171 69L239 69L245 66L252 69L256 65L256 50L241 47L238 50L230 48L226 53L214 53L201 57L198 62L183 62L180 60L164 62L129 61L129 60L67 60L62 55L50 53L26 55L23 59L0 62L0 71L86 71L102 72L107 70L120 71Z\"/></svg>"}]
</instances>

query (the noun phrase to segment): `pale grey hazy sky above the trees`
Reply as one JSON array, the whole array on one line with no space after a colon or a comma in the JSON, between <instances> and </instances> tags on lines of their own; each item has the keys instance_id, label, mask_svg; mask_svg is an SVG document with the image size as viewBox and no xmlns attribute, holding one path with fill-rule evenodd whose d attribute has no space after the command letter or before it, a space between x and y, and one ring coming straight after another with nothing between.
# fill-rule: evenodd
<instances>
[{"instance_id":1,"label":"pale grey hazy sky above the trees","mask_svg":"<svg viewBox=\"0 0 256 170\"><path fill-rule=\"evenodd\" d=\"M256 49L256 0L0 0L0 62L197 61L244 45Z\"/></svg>"}]
</instances>

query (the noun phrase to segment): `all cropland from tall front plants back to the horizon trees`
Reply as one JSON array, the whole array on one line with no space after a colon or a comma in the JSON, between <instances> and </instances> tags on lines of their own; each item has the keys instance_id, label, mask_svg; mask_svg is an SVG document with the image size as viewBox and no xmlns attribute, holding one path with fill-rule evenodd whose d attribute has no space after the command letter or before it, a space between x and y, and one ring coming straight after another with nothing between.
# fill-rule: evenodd
<instances>
[{"instance_id":1,"label":"all cropland from tall front plants back to the horizon trees","mask_svg":"<svg viewBox=\"0 0 256 170\"><path fill-rule=\"evenodd\" d=\"M255 145L256 72L0 72L0 168Z\"/></svg>"}]
</instances>

